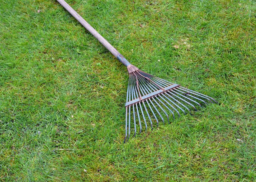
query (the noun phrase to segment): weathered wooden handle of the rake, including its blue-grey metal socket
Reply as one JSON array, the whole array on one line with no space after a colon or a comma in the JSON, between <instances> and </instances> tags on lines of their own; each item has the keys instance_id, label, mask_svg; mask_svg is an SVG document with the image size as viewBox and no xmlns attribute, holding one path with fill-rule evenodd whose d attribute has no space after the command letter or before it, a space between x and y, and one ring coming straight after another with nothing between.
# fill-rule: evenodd
<instances>
[{"instance_id":1,"label":"weathered wooden handle of the rake, including its blue-grey metal socket","mask_svg":"<svg viewBox=\"0 0 256 182\"><path fill-rule=\"evenodd\" d=\"M88 22L85 21L69 4L64 0L57 0L86 30L88 30L102 45L107 48L123 65L129 66L129 63L104 37L102 37Z\"/></svg>"}]
</instances>

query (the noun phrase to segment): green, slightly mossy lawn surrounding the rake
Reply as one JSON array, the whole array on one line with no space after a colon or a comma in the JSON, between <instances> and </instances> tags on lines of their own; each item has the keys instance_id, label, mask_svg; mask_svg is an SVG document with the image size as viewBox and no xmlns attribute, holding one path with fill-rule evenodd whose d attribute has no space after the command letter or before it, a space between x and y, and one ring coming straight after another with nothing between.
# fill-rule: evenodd
<instances>
[{"instance_id":1,"label":"green, slightly mossy lawn surrounding the rake","mask_svg":"<svg viewBox=\"0 0 256 182\"><path fill-rule=\"evenodd\" d=\"M0 0L2 181L256 180L255 1L67 2L132 64L219 104L123 144L126 68L57 1Z\"/></svg>"}]
</instances>

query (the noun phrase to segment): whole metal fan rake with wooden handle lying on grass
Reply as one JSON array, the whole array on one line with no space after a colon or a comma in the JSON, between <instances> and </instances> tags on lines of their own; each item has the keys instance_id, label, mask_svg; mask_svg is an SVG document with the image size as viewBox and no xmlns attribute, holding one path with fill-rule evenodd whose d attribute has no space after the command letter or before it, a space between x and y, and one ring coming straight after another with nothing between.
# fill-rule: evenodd
<instances>
[{"instance_id":1,"label":"whole metal fan rake with wooden handle lying on grass","mask_svg":"<svg viewBox=\"0 0 256 182\"><path fill-rule=\"evenodd\" d=\"M175 115L180 117L180 112L187 114L190 113L191 108L197 111L196 107L202 107L202 104L208 105L213 102L217 103L213 98L207 95L181 87L178 84L171 83L139 70L136 66L129 63L122 54L92 28L92 26L64 0L57 1L127 67L129 81L125 104L124 143L130 137L131 122L134 124L135 136L137 132L137 122L139 122L139 133L141 133L143 122L145 124L145 130L147 130L149 122L152 129L153 121L156 122L158 126L159 120L164 123L164 118L166 117L169 124L169 117L173 119L175 119Z\"/></svg>"}]
</instances>

